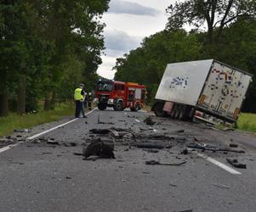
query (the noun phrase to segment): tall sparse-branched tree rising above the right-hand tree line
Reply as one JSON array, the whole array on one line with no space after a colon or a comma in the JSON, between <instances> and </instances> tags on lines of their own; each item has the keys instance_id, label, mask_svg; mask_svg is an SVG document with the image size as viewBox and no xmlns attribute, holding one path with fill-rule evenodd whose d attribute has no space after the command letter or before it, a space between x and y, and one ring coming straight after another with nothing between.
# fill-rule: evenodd
<instances>
[{"instance_id":1,"label":"tall sparse-branched tree rising above the right-hand tree line","mask_svg":"<svg viewBox=\"0 0 256 212\"><path fill-rule=\"evenodd\" d=\"M255 17L255 0L185 0L172 3L168 9L167 28L182 28L184 25L208 26L208 43L218 41L225 26L239 17ZM216 30L216 36L214 35Z\"/></svg>"}]
</instances>

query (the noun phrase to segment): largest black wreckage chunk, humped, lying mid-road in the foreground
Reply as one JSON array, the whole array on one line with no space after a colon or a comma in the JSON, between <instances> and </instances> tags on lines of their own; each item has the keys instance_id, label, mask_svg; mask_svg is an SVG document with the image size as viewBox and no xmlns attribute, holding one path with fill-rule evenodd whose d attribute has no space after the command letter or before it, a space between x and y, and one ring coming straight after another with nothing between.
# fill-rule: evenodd
<instances>
[{"instance_id":1,"label":"largest black wreckage chunk, humped, lying mid-road in the foreground","mask_svg":"<svg viewBox=\"0 0 256 212\"><path fill-rule=\"evenodd\" d=\"M116 159L113 145L106 144L101 141L100 137L82 148L82 156L88 159L89 156L95 155L106 159Z\"/></svg>"}]
</instances>

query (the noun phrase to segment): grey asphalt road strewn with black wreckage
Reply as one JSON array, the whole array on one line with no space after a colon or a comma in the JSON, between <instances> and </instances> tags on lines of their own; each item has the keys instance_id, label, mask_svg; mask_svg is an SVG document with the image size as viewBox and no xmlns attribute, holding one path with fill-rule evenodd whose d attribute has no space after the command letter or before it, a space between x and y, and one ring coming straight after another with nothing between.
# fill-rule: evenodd
<instances>
[{"instance_id":1,"label":"grey asphalt road strewn with black wreckage","mask_svg":"<svg viewBox=\"0 0 256 212\"><path fill-rule=\"evenodd\" d=\"M143 120L148 116L145 112L96 109L87 119L75 120L3 151L0 153L0 211L256 211L255 134L219 131L156 117L153 118L156 124L147 126ZM105 124L98 124L99 117ZM30 136L58 125L38 126ZM148 135L164 134L173 138L168 148L157 153L116 141L117 159L91 161L74 155L82 152L82 143L96 136L89 133L90 129L113 126L134 131L145 140ZM42 138L60 145L48 144ZM131 139L127 137L126 141ZM189 150L188 154L181 154L193 141L214 147L236 142L238 149L246 153ZM71 145L73 142L76 146ZM220 165L200 154L216 159ZM228 157L246 164L247 169L232 167L226 162ZM149 159L186 163L145 165ZM230 173L223 168L225 165L240 174Z\"/></svg>"}]
</instances>

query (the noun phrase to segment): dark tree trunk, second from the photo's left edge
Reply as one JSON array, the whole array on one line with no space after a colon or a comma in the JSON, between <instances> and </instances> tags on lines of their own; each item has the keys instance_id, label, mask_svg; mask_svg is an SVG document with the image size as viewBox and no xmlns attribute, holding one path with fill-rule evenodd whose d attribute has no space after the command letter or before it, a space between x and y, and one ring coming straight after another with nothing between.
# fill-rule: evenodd
<instances>
[{"instance_id":1,"label":"dark tree trunk, second from the photo's left edge","mask_svg":"<svg viewBox=\"0 0 256 212\"><path fill-rule=\"evenodd\" d=\"M26 75L20 76L18 92L17 92L17 113L26 113Z\"/></svg>"}]
</instances>

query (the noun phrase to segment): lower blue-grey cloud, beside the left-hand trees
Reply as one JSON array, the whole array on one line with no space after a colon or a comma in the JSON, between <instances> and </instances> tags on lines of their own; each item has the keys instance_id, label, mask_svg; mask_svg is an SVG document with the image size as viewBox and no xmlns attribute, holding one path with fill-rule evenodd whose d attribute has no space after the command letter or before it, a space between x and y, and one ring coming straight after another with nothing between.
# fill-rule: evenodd
<instances>
[{"instance_id":1,"label":"lower blue-grey cloud, beside the left-hand trees","mask_svg":"<svg viewBox=\"0 0 256 212\"><path fill-rule=\"evenodd\" d=\"M105 47L106 50L113 54L128 53L131 49L139 47L142 38L137 36L129 36L124 31L106 31ZM106 52L106 51L105 51ZM114 55L111 55L114 56Z\"/></svg>"}]
</instances>

